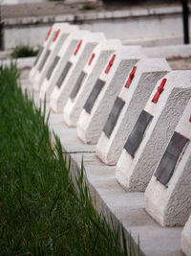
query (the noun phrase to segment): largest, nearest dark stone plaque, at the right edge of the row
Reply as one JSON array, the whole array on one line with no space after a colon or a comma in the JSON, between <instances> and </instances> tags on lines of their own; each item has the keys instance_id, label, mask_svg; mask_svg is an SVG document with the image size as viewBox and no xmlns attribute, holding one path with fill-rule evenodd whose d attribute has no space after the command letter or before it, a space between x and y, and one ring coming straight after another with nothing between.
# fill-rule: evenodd
<instances>
[{"instance_id":1,"label":"largest, nearest dark stone plaque, at the right edge of the row","mask_svg":"<svg viewBox=\"0 0 191 256\"><path fill-rule=\"evenodd\" d=\"M180 158L180 153L188 141L189 139L179 132L174 132L155 172L155 176L161 184L166 185L169 182Z\"/></svg>"}]
</instances>

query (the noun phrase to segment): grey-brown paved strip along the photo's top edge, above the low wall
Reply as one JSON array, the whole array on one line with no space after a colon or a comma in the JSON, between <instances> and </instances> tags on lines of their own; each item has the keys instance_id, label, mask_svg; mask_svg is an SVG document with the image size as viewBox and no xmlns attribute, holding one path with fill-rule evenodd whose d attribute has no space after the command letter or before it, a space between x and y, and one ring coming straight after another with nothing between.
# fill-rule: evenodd
<instances>
[{"instance_id":1,"label":"grey-brown paved strip along the photo's top edge, above the low wall","mask_svg":"<svg viewBox=\"0 0 191 256\"><path fill-rule=\"evenodd\" d=\"M83 0L84 1L84 0ZM84 10L84 3L67 4L64 1L48 1L43 3L28 3L28 4L16 4L16 5L2 5L1 15L4 18L16 18L16 17L30 17L30 16L48 16L48 15L60 15L60 14L75 14L75 13L90 13L90 12L103 12L103 11L122 11L122 10L136 10L141 8L153 8L153 7L169 7L180 6L180 1L171 0L147 0L136 1L138 4L129 3L129 1L106 1L102 3L100 0L96 4L88 4L92 7L92 10ZM87 5L86 5L87 7Z\"/></svg>"}]
</instances>

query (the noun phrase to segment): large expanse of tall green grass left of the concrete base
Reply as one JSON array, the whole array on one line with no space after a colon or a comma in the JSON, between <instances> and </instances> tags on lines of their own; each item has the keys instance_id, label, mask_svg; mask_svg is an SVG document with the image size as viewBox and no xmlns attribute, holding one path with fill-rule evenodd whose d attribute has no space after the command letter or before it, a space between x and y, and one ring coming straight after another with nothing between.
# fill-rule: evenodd
<instances>
[{"instance_id":1,"label":"large expanse of tall green grass left of the concrete base","mask_svg":"<svg viewBox=\"0 0 191 256\"><path fill-rule=\"evenodd\" d=\"M78 171L78 194L43 109L17 86L15 66L0 67L0 255L135 255L96 213ZM123 241L121 249L119 241Z\"/></svg>"}]
</instances>

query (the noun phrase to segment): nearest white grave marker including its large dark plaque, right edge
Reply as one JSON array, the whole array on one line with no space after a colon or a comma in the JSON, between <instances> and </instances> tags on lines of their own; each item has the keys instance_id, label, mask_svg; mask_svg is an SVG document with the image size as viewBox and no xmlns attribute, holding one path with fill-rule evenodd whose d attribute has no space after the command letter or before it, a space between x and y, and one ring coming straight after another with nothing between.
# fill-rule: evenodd
<instances>
[{"instance_id":1,"label":"nearest white grave marker including its large dark plaque, right edge","mask_svg":"<svg viewBox=\"0 0 191 256\"><path fill-rule=\"evenodd\" d=\"M184 225L191 213L190 115L191 100L145 191L145 210L162 226Z\"/></svg>"}]
</instances>

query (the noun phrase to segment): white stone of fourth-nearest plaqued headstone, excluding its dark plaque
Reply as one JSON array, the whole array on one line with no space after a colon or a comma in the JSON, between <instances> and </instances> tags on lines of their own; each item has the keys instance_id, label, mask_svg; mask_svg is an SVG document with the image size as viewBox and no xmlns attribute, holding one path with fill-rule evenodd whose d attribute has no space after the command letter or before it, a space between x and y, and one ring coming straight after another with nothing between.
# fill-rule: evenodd
<instances>
[{"instance_id":1,"label":"white stone of fourth-nearest plaqued headstone, excluding its dark plaque","mask_svg":"<svg viewBox=\"0 0 191 256\"><path fill-rule=\"evenodd\" d=\"M138 46L122 46L115 54L116 58L109 73L105 73L107 63L99 76L99 80L105 84L96 98L91 113L84 108L80 113L77 135L85 143L96 144L127 74L140 58L145 57Z\"/></svg>"}]
</instances>

